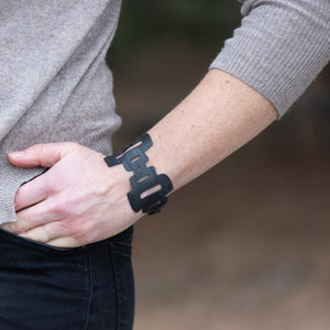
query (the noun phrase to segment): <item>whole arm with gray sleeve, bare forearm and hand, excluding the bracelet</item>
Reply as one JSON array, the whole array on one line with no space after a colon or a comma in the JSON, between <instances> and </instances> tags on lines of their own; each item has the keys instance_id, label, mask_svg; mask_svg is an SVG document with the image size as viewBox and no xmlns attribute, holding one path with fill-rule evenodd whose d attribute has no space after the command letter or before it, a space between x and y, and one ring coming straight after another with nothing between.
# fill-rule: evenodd
<instances>
[{"instance_id":1,"label":"whole arm with gray sleeve, bare forearm and hand, excluding the bracelet","mask_svg":"<svg viewBox=\"0 0 330 330\"><path fill-rule=\"evenodd\" d=\"M329 61L329 10L328 0L245 0L242 26L215 69L150 130L147 165L178 189L258 134L276 110L282 116ZM131 174L121 165L108 168L103 156L73 143L9 155L16 166L52 168L19 189L18 221L4 228L76 246L134 223L142 215L127 198Z\"/></svg>"}]
</instances>

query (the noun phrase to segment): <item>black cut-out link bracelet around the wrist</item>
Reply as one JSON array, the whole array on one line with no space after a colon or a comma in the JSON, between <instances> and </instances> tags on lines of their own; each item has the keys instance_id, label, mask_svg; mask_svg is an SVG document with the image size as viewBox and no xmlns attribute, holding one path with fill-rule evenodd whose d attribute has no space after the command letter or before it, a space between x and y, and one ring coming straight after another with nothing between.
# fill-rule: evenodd
<instances>
[{"instance_id":1,"label":"black cut-out link bracelet around the wrist","mask_svg":"<svg viewBox=\"0 0 330 330\"><path fill-rule=\"evenodd\" d=\"M128 194L130 205L135 212L154 215L167 202L166 195L173 185L166 174L157 174L154 166L146 167L148 157L145 152L153 145L147 133L142 134L123 151L105 157L109 167L122 164L125 170L133 172L130 178L132 190Z\"/></svg>"}]
</instances>

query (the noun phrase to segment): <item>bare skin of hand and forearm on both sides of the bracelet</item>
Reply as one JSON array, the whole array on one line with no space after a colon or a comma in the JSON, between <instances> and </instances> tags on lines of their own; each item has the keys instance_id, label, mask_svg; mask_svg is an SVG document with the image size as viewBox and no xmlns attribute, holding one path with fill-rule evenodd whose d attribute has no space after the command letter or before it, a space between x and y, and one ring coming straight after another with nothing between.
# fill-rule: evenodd
<instances>
[{"instance_id":1,"label":"bare skin of hand and forearm on both sides of the bracelet","mask_svg":"<svg viewBox=\"0 0 330 330\"><path fill-rule=\"evenodd\" d=\"M257 135L277 118L274 106L229 74L212 69L148 133L147 166L169 176L174 190L191 182ZM127 194L132 176L108 167L105 155L76 143L33 145L10 153L20 167L50 169L16 193L16 222L2 228L62 248L86 245L135 223Z\"/></svg>"}]
</instances>

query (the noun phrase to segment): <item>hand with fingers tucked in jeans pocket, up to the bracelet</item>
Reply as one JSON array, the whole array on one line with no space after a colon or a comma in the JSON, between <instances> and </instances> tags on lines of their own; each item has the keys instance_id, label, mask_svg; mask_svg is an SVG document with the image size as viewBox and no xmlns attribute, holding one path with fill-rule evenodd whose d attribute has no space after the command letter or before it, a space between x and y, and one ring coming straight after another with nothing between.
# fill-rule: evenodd
<instances>
[{"instance_id":1,"label":"hand with fingers tucked in jeans pocket, up to the bracelet","mask_svg":"<svg viewBox=\"0 0 330 330\"><path fill-rule=\"evenodd\" d=\"M112 237L142 217L129 204L130 173L108 167L105 155L76 143L37 144L11 153L20 167L51 167L22 185L16 222L2 228L31 240L74 248Z\"/></svg>"}]
</instances>

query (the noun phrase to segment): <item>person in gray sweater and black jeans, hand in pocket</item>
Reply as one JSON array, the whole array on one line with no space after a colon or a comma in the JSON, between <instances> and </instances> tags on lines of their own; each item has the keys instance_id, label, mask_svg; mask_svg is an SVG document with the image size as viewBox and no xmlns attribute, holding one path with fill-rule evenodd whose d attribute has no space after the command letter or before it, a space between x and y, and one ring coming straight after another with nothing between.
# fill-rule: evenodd
<instances>
[{"instance_id":1,"label":"person in gray sweater and black jeans, hand in pocket","mask_svg":"<svg viewBox=\"0 0 330 330\"><path fill-rule=\"evenodd\" d=\"M132 329L132 226L280 118L327 65L328 0L241 2L200 84L147 147L110 165L120 118L105 56L121 1L0 4L1 329ZM130 182L131 150L156 189ZM162 202L143 205L154 194Z\"/></svg>"}]
</instances>

